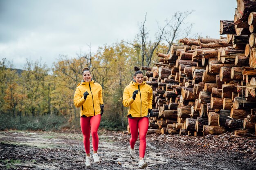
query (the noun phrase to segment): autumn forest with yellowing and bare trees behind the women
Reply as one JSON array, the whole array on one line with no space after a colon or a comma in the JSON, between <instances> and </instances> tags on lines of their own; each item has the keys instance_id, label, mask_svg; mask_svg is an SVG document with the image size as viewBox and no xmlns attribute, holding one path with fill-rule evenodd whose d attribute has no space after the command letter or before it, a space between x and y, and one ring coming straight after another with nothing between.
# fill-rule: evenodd
<instances>
[{"instance_id":1,"label":"autumn forest with yellowing and bare trees behind the women","mask_svg":"<svg viewBox=\"0 0 256 170\"><path fill-rule=\"evenodd\" d=\"M165 25L158 25L154 39L148 37L145 15L131 42L106 44L96 53L60 55L52 68L41 60L27 60L24 69L15 69L11 61L3 58L0 61L0 130L79 129L80 108L75 108L73 96L84 67L90 68L94 81L103 88L105 108L101 127L126 128L128 110L122 104L122 95L132 80L133 67L153 66L158 60L156 53L168 53L179 38L198 38L198 34L190 35L193 23L186 22L191 13L193 11L176 12L166 19Z\"/></svg>"}]
</instances>

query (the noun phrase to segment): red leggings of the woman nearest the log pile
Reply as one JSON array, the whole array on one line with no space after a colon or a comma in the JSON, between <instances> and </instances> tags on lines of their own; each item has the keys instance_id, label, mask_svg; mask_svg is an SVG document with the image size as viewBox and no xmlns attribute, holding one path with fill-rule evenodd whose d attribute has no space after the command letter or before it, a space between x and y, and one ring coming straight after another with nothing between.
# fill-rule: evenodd
<instances>
[{"instance_id":1,"label":"red leggings of the woman nearest the log pile","mask_svg":"<svg viewBox=\"0 0 256 170\"><path fill-rule=\"evenodd\" d=\"M131 139L130 146L134 148L135 142L138 139L139 129L139 157L144 158L146 151L146 134L148 131L148 117L134 117L133 119L128 118Z\"/></svg>"}]
</instances>

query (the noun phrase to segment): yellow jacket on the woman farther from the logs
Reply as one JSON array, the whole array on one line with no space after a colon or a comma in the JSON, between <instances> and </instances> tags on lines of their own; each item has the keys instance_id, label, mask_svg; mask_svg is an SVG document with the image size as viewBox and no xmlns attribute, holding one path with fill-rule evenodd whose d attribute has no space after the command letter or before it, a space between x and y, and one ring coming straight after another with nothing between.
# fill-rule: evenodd
<instances>
[{"instance_id":1,"label":"yellow jacket on the woman farther from the logs","mask_svg":"<svg viewBox=\"0 0 256 170\"><path fill-rule=\"evenodd\" d=\"M83 98L83 93L88 91L89 95L86 100ZM102 87L98 83L81 82L76 86L76 92L74 94L74 105L77 108L81 108L80 117L85 115L95 116L101 113L100 104L103 104L102 99Z\"/></svg>"}]
</instances>

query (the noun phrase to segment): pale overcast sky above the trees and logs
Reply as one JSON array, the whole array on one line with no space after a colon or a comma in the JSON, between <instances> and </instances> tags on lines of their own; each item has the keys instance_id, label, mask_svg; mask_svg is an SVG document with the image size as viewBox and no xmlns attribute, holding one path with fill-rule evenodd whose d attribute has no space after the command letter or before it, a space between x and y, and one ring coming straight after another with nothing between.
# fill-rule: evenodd
<instances>
[{"instance_id":1,"label":"pale overcast sky above the trees and logs","mask_svg":"<svg viewBox=\"0 0 256 170\"><path fill-rule=\"evenodd\" d=\"M132 41L147 13L151 37L176 11L195 10L192 34L219 38L220 20L233 20L236 0L0 0L0 59L22 69L26 58L48 67L120 40Z\"/></svg>"}]
</instances>

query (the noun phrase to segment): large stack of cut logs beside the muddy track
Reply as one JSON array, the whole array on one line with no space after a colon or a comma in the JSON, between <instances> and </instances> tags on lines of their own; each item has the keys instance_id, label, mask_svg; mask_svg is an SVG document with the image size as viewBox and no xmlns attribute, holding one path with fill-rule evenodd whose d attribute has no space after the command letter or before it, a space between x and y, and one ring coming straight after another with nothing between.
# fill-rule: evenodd
<instances>
[{"instance_id":1,"label":"large stack of cut logs beside the muddy track","mask_svg":"<svg viewBox=\"0 0 256 170\"><path fill-rule=\"evenodd\" d=\"M238 0L234 20L220 21L227 38L180 40L146 70L153 88L149 133L255 136L256 1ZM182 44L182 45L181 45Z\"/></svg>"}]
</instances>

